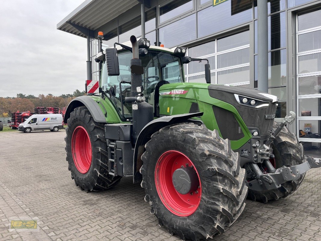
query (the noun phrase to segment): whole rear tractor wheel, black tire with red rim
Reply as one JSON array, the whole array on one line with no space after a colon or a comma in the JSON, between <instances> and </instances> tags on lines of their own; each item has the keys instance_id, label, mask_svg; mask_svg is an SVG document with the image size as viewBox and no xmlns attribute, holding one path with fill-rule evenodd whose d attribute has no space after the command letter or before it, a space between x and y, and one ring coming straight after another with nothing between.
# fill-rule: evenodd
<instances>
[{"instance_id":1,"label":"whole rear tractor wheel, black tire with red rim","mask_svg":"<svg viewBox=\"0 0 321 241\"><path fill-rule=\"evenodd\" d=\"M68 170L76 186L89 192L119 183L121 177L108 174L104 125L95 122L85 106L70 113L65 142Z\"/></svg>"}]
</instances>

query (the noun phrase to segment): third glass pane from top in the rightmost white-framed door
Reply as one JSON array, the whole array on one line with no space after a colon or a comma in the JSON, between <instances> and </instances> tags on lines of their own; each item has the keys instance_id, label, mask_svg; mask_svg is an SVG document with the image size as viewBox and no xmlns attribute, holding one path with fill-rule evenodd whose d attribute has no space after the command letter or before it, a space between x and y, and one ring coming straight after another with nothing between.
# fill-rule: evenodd
<instances>
[{"instance_id":1,"label":"third glass pane from top in the rightmost white-framed door","mask_svg":"<svg viewBox=\"0 0 321 241\"><path fill-rule=\"evenodd\" d=\"M321 71L321 53L299 56L299 74Z\"/></svg>"}]
</instances>

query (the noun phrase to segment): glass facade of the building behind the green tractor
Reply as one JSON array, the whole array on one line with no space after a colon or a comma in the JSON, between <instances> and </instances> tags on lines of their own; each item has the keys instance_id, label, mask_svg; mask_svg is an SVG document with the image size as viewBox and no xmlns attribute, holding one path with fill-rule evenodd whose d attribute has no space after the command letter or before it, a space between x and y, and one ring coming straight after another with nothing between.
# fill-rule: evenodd
<instances>
[{"instance_id":1,"label":"glass facade of the building behind the green tractor","mask_svg":"<svg viewBox=\"0 0 321 241\"><path fill-rule=\"evenodd\" d=\"M257 1L252 1L252 7L235 2L241 4L239 9L231 6L231 0L216 6L210 0L159 0L145 12L146 38L157 46L186 47L188 56L207 59L212 84L257 88ZM319 135L321 4L269 0L267 7L268 92L279 98L276 121L296 111L297 121L291 131L299 136L300 130L305 133L306 124L310 124L310 132ZM141 35L140 16L118 22L125 23L105 34L104 48L128 41L132 34ZM93 79L99 76L99 65L94 62L97 47L97 40L92 40ZM205 63L184 64L186 81L205 83ZM301 133L299 141L311 151L318 149L321 138Z\"/></svg>"}]
</instances>

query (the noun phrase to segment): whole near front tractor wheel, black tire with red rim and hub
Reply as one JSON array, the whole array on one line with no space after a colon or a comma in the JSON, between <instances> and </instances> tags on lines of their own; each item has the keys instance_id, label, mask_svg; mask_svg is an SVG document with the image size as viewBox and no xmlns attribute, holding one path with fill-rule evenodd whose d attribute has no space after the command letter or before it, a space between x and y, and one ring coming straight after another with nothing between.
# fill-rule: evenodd
<instances>
[{"instance_id":1,"label":"whole near front tractor wheel, black tire with red rim and hub","mask_svg":"<svg viewBox=\"0 0 321 241\"><path fill-rule=\"evenodd\" d=\"M174 124L155 132L145 148L145 201L171 235L213 238L238 219L247 196L245 170L217 130Z\"/></svg>"}]
</instances>

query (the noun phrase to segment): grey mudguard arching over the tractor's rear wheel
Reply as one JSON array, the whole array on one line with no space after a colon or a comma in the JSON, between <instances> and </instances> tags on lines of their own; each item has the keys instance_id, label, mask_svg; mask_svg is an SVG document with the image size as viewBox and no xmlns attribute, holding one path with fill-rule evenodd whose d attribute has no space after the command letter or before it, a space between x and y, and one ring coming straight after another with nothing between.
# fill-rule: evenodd
<instances>
[{"instance_id":1,"label":"grey mudguard arching over the tractor's rear wheel","mask_svg":"<svg viewBox=\"0 0 321 241\"><path fill-rule=\"evenodd\" d=\"M74 98L68 105L66 113L65 113L65 117L64 117L64 122L67 123L68 118L70 117L70 113L79 106L86 106L87 109L89 110L89 112L92 115L92 118L94 119L94 121L96 122L102 122L105 123L106 122L106 116L107 116L107 112L104 113L101 111L98 103L92 99L90 96L84 95L84 96L80 96L77 98Z\"/></svg>"}]
</instances>

